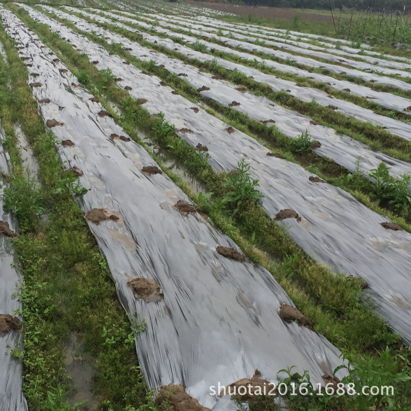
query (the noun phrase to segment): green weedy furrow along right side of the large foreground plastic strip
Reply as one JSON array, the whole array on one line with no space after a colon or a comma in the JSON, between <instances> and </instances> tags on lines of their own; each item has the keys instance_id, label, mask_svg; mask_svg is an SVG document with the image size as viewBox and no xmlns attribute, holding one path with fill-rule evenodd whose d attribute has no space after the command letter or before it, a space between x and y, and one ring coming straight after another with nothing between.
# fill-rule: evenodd
<instances>
[{"instance_id":1,"label":"green weedy furrow along right side of the large foreground plastic strip","mask_svg":"<svg viewBox=\"0 0 411 411\"><path fill-rule=\"evenodd\" d=\"M330 341L347 350L349 358L358 362L357 368L361 370L367 367L374 370L381 370L388 373L387 378L390 381L397 381L397 373L401 370L406 372L409 369L409 361L406 360L404 366L403 358L409 358L409 350L401 346L393 346L390 353L390 367L395 365L395 369L388 368L388 364L381 361L381 356L372 349L373 346L382 346L393 344L398 341L398 336L390 334L383 322L378 319L371 311L360 303L360 284L356 280L347 281L344 276L335 275L325 266L316 264L309 257L305 256L302 251L288 237L286 231L281 229L275 222L268 219L263 210L256 203L255 196L258 182L249 180L247 174L247 165L239 164L239 169L233 173L231 183L227 185L227 175L222 173L215 174L206 159L187 145L184 141L175 135L173 126L168 125L161 115L151 116L136 100L132 99L125 90L117 87L112 80L104 84L106 73L99 72L94 65L90 63L87 56L79 54L70 44L65 43L61 38L51 35L46 25L36 23L27 14L18 10L16 6L9 6L10 9L17 12L23 21L37 35L48 44L59 55L69 69L77 76L86 71L90 79L87 87L97 95L105 106L111 112L115 121L121 125L132 138L141 143L137 128L148 132L153 139L157 139L164 147L169 147L176 157L182 159L187 169L194 171L196 175L206 184L211 195L196 196L187 190L187 186L168 169L164 171L175 182L180 185L189 196L197 201L210 218L227 233L254 261L263 264L268 268L276 279L283 286L289 296L296 303L297 307L304 312L314 323L317 331L323 333ZM83 74L84 76L84 74ZM117 115L106 102L104 96L111 102L117 104L122 114ZM237 178L236 175L242 175ZM242 182L241 182L241 181ZM233 189L234 187L234 189ZM248 189L246 188L248 187ZM250 191L251 187L251 191ZM226 201L224 208L219 205L219 199L224 199L227 193L234 192L238 196L241 192L246 192L245 200L240 206L236 201ZM230 194L231 196L231 194ZM258 194L257 194L258 196ZM238 207L235 218L230 217L233 211ZM278 258L283 260L279 266L269 263L267 254L256 248L270 250ZM319 288L319 286L321 287ZM361 352L371 350L371 356L361 356ZM380 358L380 360L375 360ZM374 364L374 365L373 365ZM364 372L365 373L365 372ZM376 381L376 373L365 373L368 375L366 381ZM409 396L408 382L395 382L397 390L396 404L402 406L406 404ZM292 409L307 409L307 402L304 399L289 398ZM300 403L302 401L302 403ZM344 399L330 399L329 404L336 402L336 409L349 409L346 405L341 405L340 401ZM376 399L381 402L381 399ZM327 404L328 409L330 405ZM371 402L370 402L371 404ZM355 404L353 403L355 406ZM255 411L274 409L272 402L261 401L261 404L252 404ZM312 409L325 409L324 404L317 402L315 399L309 407Z\"/></svg>"}]
</instances>

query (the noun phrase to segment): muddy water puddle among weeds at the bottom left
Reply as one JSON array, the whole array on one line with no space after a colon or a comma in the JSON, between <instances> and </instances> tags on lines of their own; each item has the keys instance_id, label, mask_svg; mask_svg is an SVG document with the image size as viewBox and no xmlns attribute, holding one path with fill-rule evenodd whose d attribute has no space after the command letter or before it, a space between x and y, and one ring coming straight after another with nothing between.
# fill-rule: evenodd
<instances>
[{"instance_id":1,"label":"muddy water puddle among weeds at the bottom left","mask_svg":"<svg viewBox=\"0 0 411 411\"><path fill-rule=\"evenodd\" d=\"M68 402L73 405L76 402L87 400L83 405L76 407L76 410L95 410L98 402L91 392L91 361L83 357L80 345L79 335L76 332L71 332L70 341L65 346L65 362L67 363L65 370L67 375L72 378L75 393L68 399Z\"/></svg>"}]
</instances>

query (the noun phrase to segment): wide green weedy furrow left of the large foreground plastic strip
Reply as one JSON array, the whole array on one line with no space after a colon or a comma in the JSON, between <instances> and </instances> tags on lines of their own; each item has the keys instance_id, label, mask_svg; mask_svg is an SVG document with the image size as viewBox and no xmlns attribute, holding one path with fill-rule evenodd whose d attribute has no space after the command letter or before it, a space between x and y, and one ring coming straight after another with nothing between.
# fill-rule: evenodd
<instances>
[{"instance_id":1,"label":"wide green weedy furrow left of the large foreground plastic strip","mask_svg":"<svg viewBox=\"0 0 411 411\"><path fill-rule=\"evenodd\" d=\"M23 301L24 351L14 347L11 355L23 357L29 409L75 408L66 402L72 385L64 369L64 343L75 332L81 351L92 361L92 390L100 409L154 410L138 366L134 330L72 196L83 194L83 187L72 175L62 175L55 137L45 132L27 84L27 69L1 25L0 40L8 60L0 61L1 117L13 166L5 200L20 220L14 247L24 275L24 286L16 290ZM14 134L17 121L39 162L40 188L21 166Z\"/></svg>"}]
</instances>

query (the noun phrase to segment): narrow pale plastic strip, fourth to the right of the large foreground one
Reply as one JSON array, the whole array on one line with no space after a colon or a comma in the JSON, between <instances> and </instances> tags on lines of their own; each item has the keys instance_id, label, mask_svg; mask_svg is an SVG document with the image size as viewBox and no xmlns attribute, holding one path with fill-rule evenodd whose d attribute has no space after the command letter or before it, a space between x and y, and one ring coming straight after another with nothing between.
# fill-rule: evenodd
<instances>
[{"instance_id":1,"label":"narrow pale plastic strip, fourth to the right of the large foreground one","mask_svg":"<svg viewBox=\"0 0 411 411\"><path fill-rule=\"evenodd\" d=\"M66 7L66 8L70 10L69 7ZM81 14L84 14L86 16L92 17L95 20L97 20L99 22L102 22L102 23L111 23L111 24L113 24L113 21L109 20L108 18L101 17L97 14L87 13L84 10L79 10L79 9L77 9L77 10L71 9L71 11L76 11L78 13L81 13ZM105 13L105 12L102 11L102 13ZM113 16L115 18L118 18L118 15L113 14ZM125 20L127 20L127 18L122 17L122 20L125 21ZM130 19L130 21L132 21L132 19ZM134 22L135 22L135 19L134 19ZM129 30L131 32L140 33L140 34L144 35L145 37L150 35L149 33L140 32L139 30L133 29L133 28L131 28L127 25L124 25L120 22L116 22L116 24L119 27L126 28L127 30ZM151 27L149 24L143 23L141 21L139 21L139 24L142 27L145 27L147 29L150 29L150 27ZM173 36L173 35L176 34L176 33L173 33L171 30L162 29L162 28L158 28L158 27L157 27L157 31L163 32L164 34L167 34L167 35L170 35L170 36ZM184 39L185 42L187 42L187 43L195 43L196 41L198 41L198 39L196 39L195 37L189 37L189 36L185 36L185 35L178 35L178 36L179 37L181 36L181 38ZM195 50L193 50L192 48L187 48L187 50L189 50L189 52L187 53L187 51L184 51L186 49L185 46L182 46L181 44L178 44L178 43L174 43L171 39L162 39L161 37L159 37L159 39L157 39L157 42L162 42L162 45L164 45L165 42L166 43L168 42L170 45L172 43L173 49L177 48L178 51L183 50L181 52L185 53L186 55L191 54L191 55L196 55L198 57L198 53L197 54L194 53ZM212 48L215 48L216 50L224 51L226 53L235 54L235 55L238 55L239 57L247 59L247 60L250 59L250 54L249 53L237 51L237 50L234 50L233 48L229 48L229 47L220 46L219 44L209 43L205 40L202 40L201 43L204 44L208 48L208 50L210 50ZM203 53L200 53L200 54L201 54L201 57L198 57L198 58L201 58L201 60L203 60L203 61L211 61L212 60L212 57L213 57L212 55L203 54ZM266 59L263 59L259 56L255 56L255 55L253 55L253 59L257 60L258 62L261 62L261 63L263 63L263 64L265 64L269 67L272 67L276 70L281 70L283 72L290 72L290 73L293 73L293 74L297 74L299 76L304 76L304 77L307 77L307 78L314 79L315 81L320 81L320 82L327 83L328 85L330 85L330 87L335 88L336 90L341 91L341 90L345 90L345 89L349 88L351 93L356 94L356 95L360 95L361 97L372 99L374 102L380 104L382 107L387 108L387 109L395 109L395 110L398 110L398 111L404 111L404 109L409 107L409 105L411 103L411 99L406 99L404 97L400 97L400 96L390 94L390 93L387 93L387 92L379 92L379 91L376 91L376 90L372 90L371 88L368 88L364 85L351 83L351 82L346 81L346 80L337 80L337 79L334 79L334 78L332 78L330 76L327 76L325 74L318 74L318 73L315 73L315 72L311 73L311 72L308 72L307 70L303 70L303 69L300 69L298 67L277 63L273 60L266 60ZM222 59L217 59L217 61L219 61L220 64L223 64L224 67L226 67L226 65L224 63L222 63ZM224 60L224 61L227 61L226 64L231 64L231 65L236 64L236 63L229 62L228 60ZM238 65L238 66L246 67L246 66L241 66L241 65ZM247 67L247 69L249 69L249 67ZM242 69L240 71L245 72L245 69ZM389 79L389 78L387 77L387 79ZM395 80L395 79L389 79L389 80ZM402 82L402 83L404 83L405 85L408 84L408 85L411 86L411 84L409 84L409 83L405 83L405 82Z\"/></svg>"}]
</instances>

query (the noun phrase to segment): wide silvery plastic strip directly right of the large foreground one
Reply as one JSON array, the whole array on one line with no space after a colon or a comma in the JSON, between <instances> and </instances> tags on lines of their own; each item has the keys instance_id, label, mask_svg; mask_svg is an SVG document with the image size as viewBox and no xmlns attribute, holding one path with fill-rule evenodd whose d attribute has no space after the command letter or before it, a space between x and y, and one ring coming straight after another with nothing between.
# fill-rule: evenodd
<instances>
[{"instance_id":1,"label":"wide silvery plastic strip directly right of the large foreground one","mask_svg":"<svg viewBox=\"0 0 411 411\"><path fill-rule=\"evenodd\" d=\"M380 223L388 219L347 192L310 182L311 173L301 166L267 157L266 148L238 130L229 134L224 122L172 94L173 90L160 85L157 77L122 64L117 55L109 55L102 46L77 38L72 33L70 41L81 41L81 49L90 61L99 62L98 69L110 68L115 76L124 79L122 86L132 87L132 97L148 100L144 107L151 114L162 111L178 130L191 129L192 133L178 135L194 147L198 143L208 147L208 162L215 171L231 171L245 158L252 176L259 178L264 194L262 207L268 215L274 217L285 208L296 210L302 218L300 222L279 222L289 236L320 263L365 279L369 285L365 296L372 299L390 327L401 333L404 342L411 342L410 233L384 229ZM198 113L190 109L193 106L199 109Z\"/></svg>"}]
</instances>

